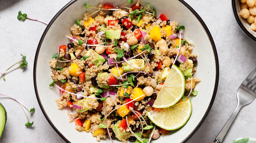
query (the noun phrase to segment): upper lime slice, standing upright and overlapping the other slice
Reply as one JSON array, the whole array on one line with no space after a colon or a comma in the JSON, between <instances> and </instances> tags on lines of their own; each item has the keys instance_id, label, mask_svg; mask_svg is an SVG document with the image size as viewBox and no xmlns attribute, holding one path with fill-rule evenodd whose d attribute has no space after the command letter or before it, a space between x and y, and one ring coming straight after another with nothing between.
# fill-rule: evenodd
<instances>
[{"instance_id":1,"label":"upper lime slice, standing upright and overlapping the other slice","mask_svg":"<svg viewBox=\"0 0 256 143\"><path fill-rule=\"evenodd\" d=\"M154 108L166 108L177 103L185 92L185 77L181 69L172 66L153 104Z\"/></svg>"}]
</instances>

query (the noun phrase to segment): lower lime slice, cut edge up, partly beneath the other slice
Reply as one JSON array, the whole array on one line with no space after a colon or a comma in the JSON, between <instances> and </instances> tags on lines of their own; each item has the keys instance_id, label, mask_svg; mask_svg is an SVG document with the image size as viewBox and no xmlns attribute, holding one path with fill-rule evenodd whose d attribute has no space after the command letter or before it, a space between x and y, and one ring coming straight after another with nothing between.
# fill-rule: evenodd
<instances>
[{"instance_id":1,"label":"lower lime slice, cut edge up, partly beneath the other slice","mask_svg":"<svg viewBox=\"0 0 256 143\"><path fill-rule=\"evenodd\" d=\"M176 130L185 125L192 111L190 99L186 102L163 109L157 109L147 112L148 118L157 126L165 130Z\"/></svg>"}]
</instances>

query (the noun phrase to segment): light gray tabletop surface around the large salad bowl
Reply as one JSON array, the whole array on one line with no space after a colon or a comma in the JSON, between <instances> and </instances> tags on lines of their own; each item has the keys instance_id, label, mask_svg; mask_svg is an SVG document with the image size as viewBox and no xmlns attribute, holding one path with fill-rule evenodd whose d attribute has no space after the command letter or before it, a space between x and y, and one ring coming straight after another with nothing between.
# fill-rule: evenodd
<instances>
[{"instance_id":1,"label":"light gray tabletop surface around the large salad bowl","mask_svg":"<svg viewBox=\"0 0 256 143\"><path fill-rule=\"evenodd\" d=\"M28 66L8 73L0 79L0 94L18 99L35 112L29 114L32 127L25 127L26 116L18 103L0 97L7 110L8 120L0 142L32 143L65 141L45 119L35 96L33 62L45 24L17 20L18 11L28 17L49 23L69 0L0 0L0 71L27 56ZM255 68L256 41L248 38L233 16L230 0L185 0L201 16L214 39L220 65L219 87L212 109L201 128L188 143L210 143L236 107L236 91L248 73ZM256 102L243 107L227 133L224 143L239 137L256 138ZM194 111L196 112L196 111ZM86 141L86 140L85 140Z\"/></svg>"}]
</instances>

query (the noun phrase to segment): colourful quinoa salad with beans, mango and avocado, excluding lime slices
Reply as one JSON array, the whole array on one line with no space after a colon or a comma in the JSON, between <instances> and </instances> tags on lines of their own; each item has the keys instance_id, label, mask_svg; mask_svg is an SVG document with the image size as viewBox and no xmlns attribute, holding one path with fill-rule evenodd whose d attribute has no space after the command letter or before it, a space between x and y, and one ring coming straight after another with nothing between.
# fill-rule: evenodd
<instances>
[{"instance_id":1,"label":"colourful quinoa salad with beans, mango and avocado, excluding lime slices","mask_svg":"<svg viewBox=\"0 0 256 143\"><path fill-rule=\"evenodd\" d=\"M192 77L197 55L190 53L195 45L184 38L185 26L165 14L156 17L150 4L132 3L86 4L83 18L63 36L70 42L50 60L58 109L67 110L74 128L92 133L96 141L149 143L167 135L147 112L156 111L152 106L169 71L175 66L184 78L185 93L178 101L196 95L192 90L201 81ZM87 12L90 8L95 12Z\"/></svg>"}]
</instances>

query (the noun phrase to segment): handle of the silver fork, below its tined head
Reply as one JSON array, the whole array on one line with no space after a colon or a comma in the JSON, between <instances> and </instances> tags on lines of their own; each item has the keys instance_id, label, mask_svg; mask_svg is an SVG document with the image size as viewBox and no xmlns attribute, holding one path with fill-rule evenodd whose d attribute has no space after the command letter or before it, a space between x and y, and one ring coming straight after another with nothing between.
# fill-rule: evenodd
<instances>
[{"instance_id":1,"label":"handle of the silver fork, below its tined head","mask_svg":"<svg viewBox=\"0 0 256 143\"><path fill-rule=\"evenodd\" d=\"M221 129L220 133L216 136L214 142L212 142L212 143L221 143L222 142L223 138L225 137L228 129L230 128L231 124L233 123L234 119L236 118L236 115L239 112L239 110L241 109L241 107L242 107L242 105L238 103L235 111L230 116L230 118L227 120L226 124Z\"/></svg>"}]
</instances>

